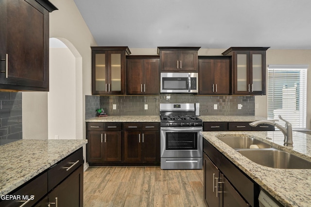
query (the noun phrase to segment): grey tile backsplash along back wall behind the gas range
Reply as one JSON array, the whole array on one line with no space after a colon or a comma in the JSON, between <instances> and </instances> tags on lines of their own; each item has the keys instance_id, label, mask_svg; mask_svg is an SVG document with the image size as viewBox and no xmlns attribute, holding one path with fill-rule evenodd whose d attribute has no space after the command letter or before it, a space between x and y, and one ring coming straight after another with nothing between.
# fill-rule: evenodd
<instances>
[{"instance_id":1,"label":"grey tile backsplash along back wall behind the gas range","mask_svg":"<svg viewBox=\"0 0 311 207\"><path fill-rule=\"evenodd\" d=\"M94 101L94 103L92 103ZM99 102L97 104L97 102ZM103 108L108 115L159 115L160 103L200 103L200 115L255 115L255 96L194 96L173 94L159 96L90 96L86 97L86 119ZM116 109L113 109L113 105ZM145 104L148 109L145 110ZM214 105L217 104L217 110ZM238 105L242 109L238 109ZM92 107L90 107L90 105Z\"/></svg>"}]
</instances>

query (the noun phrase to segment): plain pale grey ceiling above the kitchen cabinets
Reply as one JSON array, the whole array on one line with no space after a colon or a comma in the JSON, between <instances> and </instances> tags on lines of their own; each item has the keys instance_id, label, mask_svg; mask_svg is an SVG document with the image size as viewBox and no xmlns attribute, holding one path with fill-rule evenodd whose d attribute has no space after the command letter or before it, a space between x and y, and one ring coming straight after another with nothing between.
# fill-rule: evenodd
<instances>
[{"instance_id":1,"label":"plain pale grey ceiling above the kitchen cabinets","mask_svg":"<svg viewBox=\"0 0 311 207\"><path fill-rule=\"evenodd\" d=\"M74 0L98 46L311 49L311 0Z\"/></svg>"}]
</instances>

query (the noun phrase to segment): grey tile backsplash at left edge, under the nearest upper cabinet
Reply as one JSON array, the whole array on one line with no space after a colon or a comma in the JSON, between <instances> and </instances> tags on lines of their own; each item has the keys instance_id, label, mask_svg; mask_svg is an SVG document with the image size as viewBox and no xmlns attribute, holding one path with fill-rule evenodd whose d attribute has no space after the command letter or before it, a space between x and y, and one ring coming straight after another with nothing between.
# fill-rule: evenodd
<instances>
[{"instance_id":1,"label":"grey tile backsplash at left edge, under the nearest upper cabinet","mask_svg":"<svg viewBox=\"0 0 311 207\"><path fill-rule=\"evenodd\" d=\"M0 92L0 145L22 139L22 93Z\"/></svg>"}]
</instances>

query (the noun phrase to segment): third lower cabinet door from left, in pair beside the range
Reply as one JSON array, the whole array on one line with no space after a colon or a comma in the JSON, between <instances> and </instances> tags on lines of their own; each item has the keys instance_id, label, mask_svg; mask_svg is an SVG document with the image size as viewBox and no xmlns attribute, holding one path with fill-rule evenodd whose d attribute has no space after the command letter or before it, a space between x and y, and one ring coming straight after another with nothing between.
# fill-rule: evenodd
<instances>
[{"instance_id":1,"label":"third lower cabinet door from left, in pair beside the range","mask_svg":"<svg viewBox=\"0 0 311 207\"><path fill-rule=\"evenodd\" d=\"M140 131L124 131L124 161L141 161Z\"/></svg>"}]
</instances>

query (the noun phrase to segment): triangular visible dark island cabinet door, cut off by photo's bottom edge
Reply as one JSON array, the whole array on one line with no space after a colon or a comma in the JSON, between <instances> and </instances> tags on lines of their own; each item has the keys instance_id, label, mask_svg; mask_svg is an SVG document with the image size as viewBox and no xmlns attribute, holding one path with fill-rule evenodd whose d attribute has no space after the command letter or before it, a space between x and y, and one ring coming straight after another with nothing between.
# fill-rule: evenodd
<instances>
[{"instance_id":1,"label":"triangular visible dark island cabinet door, cut off by photo's bottom edge","mask_svg":"<svg viewBox=\"0 0 311 207\"><path fill-rule=\"evenodd\" d=\"M233 188L223 174L220 177L219 191L223 207L249 207L241 195Z\"/></svg>"}]
</instances>

